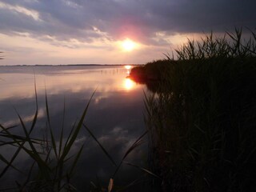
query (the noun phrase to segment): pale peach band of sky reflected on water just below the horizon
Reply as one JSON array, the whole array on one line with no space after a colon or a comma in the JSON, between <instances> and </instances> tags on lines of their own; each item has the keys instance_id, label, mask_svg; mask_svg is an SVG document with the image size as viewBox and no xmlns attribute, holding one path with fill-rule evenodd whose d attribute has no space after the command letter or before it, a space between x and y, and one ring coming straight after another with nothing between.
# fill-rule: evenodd
<instances>
[{"instance_id":1,"label":"pale peach band of sky reflected on water just below the horizon","mask_svg":"<svg viewBox=\"0 0 256 192\"><path fill-rule=\"evenodd\" d=\"M57 70L61 67L66 67L66 69ZM38 95L45 94L45 87L47 94L79 94L85 90L92 94L96 88L97 91L102 93L131 89L130 82L127 86L124 86L122 82L127 76L127 71L129 72L124 66L101 66L94 67L93 70L86 70L88 66L41 66L38 69L35 67L35 72L33 70L30 71L30 67L20 68L15 73L10 70L10 72L2 74L6 81L0 82L2 87L0 100L34 98L34 81L36 81ZM70 73L68 71L73 72ZM34 73L36 74L35 78ZM137 85L136 87L141 89L142 86ZM133 89L136 87L135 84L132 86Z\"/></svg>"}]
</instances>

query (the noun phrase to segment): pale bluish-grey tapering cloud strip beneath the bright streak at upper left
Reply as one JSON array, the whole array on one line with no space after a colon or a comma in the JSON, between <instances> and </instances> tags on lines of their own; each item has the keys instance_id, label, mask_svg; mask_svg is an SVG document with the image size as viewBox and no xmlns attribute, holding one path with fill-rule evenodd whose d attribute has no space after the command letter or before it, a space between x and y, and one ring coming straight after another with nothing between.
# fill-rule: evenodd
<instances>
[{"instance_id":1,"label":"pale bluish-grey tapering cloud strip beneath the bright streak at upper left","mask_svg":"<svg viewBox=\"0 0 256 192\"><path fill-rule=\"evenodd\" d=\"M94 33L93 30L79 29L59 22L55 18L45 17L42 21L35 21L26 14L10 10L0 12L0 31L9 35L27 32L33 38L41 38L43 35L52 36L57 40L78 38L82 42L91 42L92 38L101 38L101 35Z\"/></svg>"}]
</instances>

